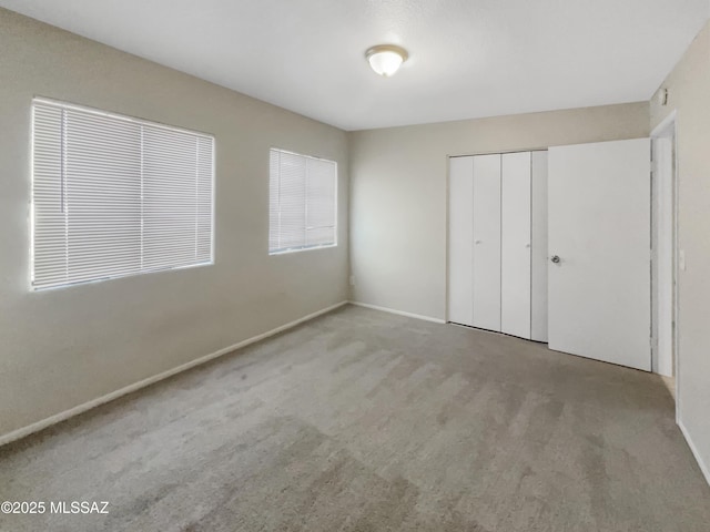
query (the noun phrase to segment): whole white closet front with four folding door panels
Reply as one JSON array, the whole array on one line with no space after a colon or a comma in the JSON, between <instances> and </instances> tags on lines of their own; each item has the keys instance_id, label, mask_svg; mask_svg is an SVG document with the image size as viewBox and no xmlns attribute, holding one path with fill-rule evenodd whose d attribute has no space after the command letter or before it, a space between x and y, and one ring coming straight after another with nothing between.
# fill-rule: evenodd
<instances>
[{"instance_id":1,"label":"whole white closet front with four folding door panels","mask_svg":"<svg viewBox=\"0 0 710 532\"><path fill-rule=\"evenodd\" d=\"M448 320L547 341L547 152L449 160Z\"/></svg>"}]
</instances>

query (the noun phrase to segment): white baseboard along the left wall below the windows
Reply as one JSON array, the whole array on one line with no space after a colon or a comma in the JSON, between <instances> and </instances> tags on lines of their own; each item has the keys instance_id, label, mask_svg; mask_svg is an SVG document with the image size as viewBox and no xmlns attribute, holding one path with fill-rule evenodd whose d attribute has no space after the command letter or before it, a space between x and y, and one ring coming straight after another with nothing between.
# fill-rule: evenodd
<instances>
[{"instance_id":1,"label":"white baseboard along the left wall below the windows","mask_svg":"<svg viewBox=\"0 0 710 532\"><path fill-rule=\"evenodd\" d=\"M210 360L214 360L215 358L221 357L222 355L226 355L227 352L232 352L235 351L242 347L246 347L251 344L255 344L260 340L263 340L265 338L268 338L270 336L274 336L277 335L278 332L282 332L286 329L291 329L292 327L295 327L296 325L303 324L304 321L308 321L313 318L317 318L318 316L329 313L331 310L335 310L336 308L342 307L343 305L347 305L348 301L341 301L337 303L335 305L331 305L327 308L323 308L321 310L317 310L313 314L310 314L307 316L304 316L302 318L298 318L294 321L291 321L288 324L282 325L281 327L276 327L275 329L271 329L266 332L263 332L261 335L257 336L253 336L252 338L247 338L246 340L242 340L237 344L234 344L232 346L225 347L223 349L220 349L219 351L214 351L211 352L210 355L205 355L204 357L200 357L195 360L191 360L189 362L185 362L181 366L178 366L175 368L169 369L168 371L163 371L162 374L158 374L154 375L152 377L149 377L148 379L143 379L143 380L139 380L138 382L134 382L132 385L129 385L124 388L121 388L119 390L112 391L111 393L106 393L105 396L101 396L97 399L92 399L89 402L84 402L82 405L79 405L74 408L70 408L69 410L64 410L63 412L59 412L55 413L54 416L50 416L49 418L42 419L40 421L37 421L32 424L28 424L27 427L22 427L21 429L17 429L13 430L12 432L8 432L7 434L2 434L0 436L0 447L4 446L7 443L10 443L11 441L14 440L19 440L20 438L24 438L26 436L29 436L33 432L39 432L42 429L45 429L48 427L51 427L52 424L57 424L61 421L64 421L69 418L73 418L74 416L79 416L80 413L85 412L87 410L91 410L92 408L99 407L101 405L104 405L106 402L113 401L114 399L118 399L122 396L126 396L129 393L132 393L134 391L140 390L141 388L145 388L146 386L150 385L154 385L155 382L159 382L163 379L166 379L169 377L172 377L173 375L178 375L181 374L182 371L186 371L189 369L192 369L196 366L201 366L205 362L209 362Z\"/></svg>"}]
</instances>

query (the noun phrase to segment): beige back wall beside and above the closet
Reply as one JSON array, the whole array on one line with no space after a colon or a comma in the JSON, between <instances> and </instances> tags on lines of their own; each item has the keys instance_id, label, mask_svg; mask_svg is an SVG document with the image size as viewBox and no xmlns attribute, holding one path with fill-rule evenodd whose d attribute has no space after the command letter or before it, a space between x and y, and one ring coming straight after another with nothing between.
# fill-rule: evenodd
<instances>
[{"instance_id":1,"label":"beige back wall beside and above the closet","mask_svg":"<svg viewBox=\"0 0 710 532\"><path fill-rule=\"evenodd\" d=\"M353 299L446 316L447 155L648 136L648 103L351 133Z\"/></svg>"}]
</instances>

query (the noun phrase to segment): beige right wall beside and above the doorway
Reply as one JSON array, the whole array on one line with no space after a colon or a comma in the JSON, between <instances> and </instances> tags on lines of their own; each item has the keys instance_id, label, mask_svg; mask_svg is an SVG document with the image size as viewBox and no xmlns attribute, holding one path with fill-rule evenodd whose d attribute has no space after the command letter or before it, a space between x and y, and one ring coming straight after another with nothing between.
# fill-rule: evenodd
<instances>
[{"instance_id":1,"label":"beige right wall beside and above the doorway","mask_svg":"<svg viewBox=\"0 0 710 532\"><path fill-rule=\"evenodd\" d=\"M669 102L651 100L651 127L677 111L679 418L710 475L710 24L666 79ZM710 477L708 478L710 481Z\"/></svg>"}]
</instances>

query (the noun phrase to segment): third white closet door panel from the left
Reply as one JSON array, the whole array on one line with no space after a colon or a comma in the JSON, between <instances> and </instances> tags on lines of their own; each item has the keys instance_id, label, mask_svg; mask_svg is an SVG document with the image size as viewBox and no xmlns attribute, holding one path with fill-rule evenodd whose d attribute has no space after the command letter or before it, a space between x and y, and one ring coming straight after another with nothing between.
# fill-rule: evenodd
<instances>
[{"instance_id":1,"label":"third white closet door panel from the left","mask_svg":"<svg viewBox=\"0 0 710 532\"><path fill-rule=\"evenodd\" d=\"M530 338L530 152L503 155L501 196L500 329Z\"/></svg>"}]
</instances>

